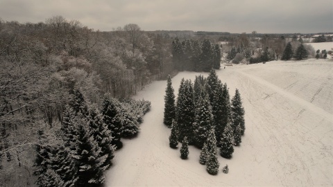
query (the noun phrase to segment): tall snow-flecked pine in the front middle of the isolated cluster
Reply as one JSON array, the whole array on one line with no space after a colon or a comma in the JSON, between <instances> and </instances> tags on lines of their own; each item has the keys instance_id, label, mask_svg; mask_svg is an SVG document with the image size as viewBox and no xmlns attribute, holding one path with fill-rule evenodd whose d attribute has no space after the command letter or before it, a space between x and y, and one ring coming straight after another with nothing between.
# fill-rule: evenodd
<instances>
[{"instance_id":1,"label":"tall snow-flecked pine in the front middle of the isolated cluster","mask_svg":"<svg viewBox=\"0 0 333 187\"><path fill-rule=\"evenodd\" d=\"M194 122L195 145L203 148L203 143L207 140L207 131L210 130L213 123L212 107L210 106L210 98L205 88L196 101Z\"/></svg>"}]
</instances>

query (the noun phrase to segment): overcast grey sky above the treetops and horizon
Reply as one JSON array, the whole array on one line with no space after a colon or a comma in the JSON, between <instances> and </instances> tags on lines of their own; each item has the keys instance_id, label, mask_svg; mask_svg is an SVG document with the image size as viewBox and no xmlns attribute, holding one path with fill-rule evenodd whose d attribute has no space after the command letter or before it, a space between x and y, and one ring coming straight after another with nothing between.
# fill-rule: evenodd
<instances>
[{"instance_id":1,"label":"overcast grey sky above the treetops and horizon","mask_svg":"<svg viewBox=\"0 0 333 187\"><path fill-rule=\"evenodd\" d=\"M103 31L137 24L142 30L333 32L332 0L0 0L4 21L37 23L53 15Z\"/></svg>"}]
</instances>

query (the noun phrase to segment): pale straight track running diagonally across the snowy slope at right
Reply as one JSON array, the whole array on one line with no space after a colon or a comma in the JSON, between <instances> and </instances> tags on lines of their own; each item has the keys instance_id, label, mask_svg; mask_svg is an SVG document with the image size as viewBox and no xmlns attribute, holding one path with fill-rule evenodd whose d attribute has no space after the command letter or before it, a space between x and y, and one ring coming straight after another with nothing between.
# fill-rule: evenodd
<instances>
[{"instance_id":1,"label":"pale straight track running diagonally across the snowy slope at right","mask_svg":"<svg viewBox=\"0 0 333 187\"><path fill-rule=\"evenodd\" d=\"M293 100L294 102L298 103L305 109L309 109L309 111L314 112L318 114L319 116L323 116L327 118L328 121L333 123L333 115L326 112L324 109L321 109L320 107L317 107L316 105L313 105L312 103L309 103L306 100L303 100L302 98L298 98L297 96L285 91L284 89L281 89L280 87L275 86L274 84L271 84L270 82L267 82L266 80L262 80L261 78L258 78L255 75L250 75L248 73L245 73L244 71L237 71L243 75L246 75L248 78L255 80L256 82L259 82L260 84L263 84L264 86L273 89L278 94L281 94L282 96L289 98L290 100Z\"/></svg>"}]
</instances>

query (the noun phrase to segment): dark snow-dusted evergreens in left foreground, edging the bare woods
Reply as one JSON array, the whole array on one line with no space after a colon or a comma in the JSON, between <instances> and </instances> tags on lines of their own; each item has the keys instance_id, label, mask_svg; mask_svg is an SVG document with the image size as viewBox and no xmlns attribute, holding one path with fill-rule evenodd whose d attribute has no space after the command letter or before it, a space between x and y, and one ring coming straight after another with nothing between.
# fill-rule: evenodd
<instances>
[{"instance_id":1,"label":"dark snow-dusted evergreens in left foreground, edging the bare woods","mask_svg":"<svg viewBox=\"0 0 333 187\"><path fill-rule=\"evenodd\" d=\"M148 101L128 103L134 103L134 108L142 106L137 113L150 108ZM114 150L122 147L121 137L139 132L142 119L129 108L132 107L105 96L100 111L96 105L88 105L76 90L60 127L52 133L57 136L38 132L34 172L37 186L101 186L105 181L103 172L112 165Z\"/></svg>"}]
</instances>

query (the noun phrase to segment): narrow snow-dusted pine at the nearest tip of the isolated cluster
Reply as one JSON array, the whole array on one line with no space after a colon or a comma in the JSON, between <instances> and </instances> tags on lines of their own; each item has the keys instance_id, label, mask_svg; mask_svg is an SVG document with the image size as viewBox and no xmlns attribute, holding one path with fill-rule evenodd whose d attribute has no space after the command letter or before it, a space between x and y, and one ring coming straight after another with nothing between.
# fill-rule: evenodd
<instances>
[{"instance_id":1,"label":"narrow snow-dusted pine at the nearest tip of the isolated cluster","mask_svg":"<svg viewBox=\"0 0 333 187\"><path fill-rule=\"evenodd\" d=\"M207 172L210 175L216 175L219 172L219 160L217 159L217 147L216 147L216 139L214 128L210 129L207 137Z\"/></svg>"}]
</instances>

